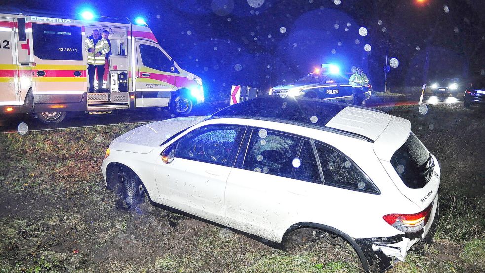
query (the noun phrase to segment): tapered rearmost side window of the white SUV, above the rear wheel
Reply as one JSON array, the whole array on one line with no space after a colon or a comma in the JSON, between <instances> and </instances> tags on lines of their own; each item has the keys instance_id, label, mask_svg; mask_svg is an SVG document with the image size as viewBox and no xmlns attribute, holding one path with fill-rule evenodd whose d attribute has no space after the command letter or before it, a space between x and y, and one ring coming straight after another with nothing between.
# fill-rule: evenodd
<instances>
[{"instance_id":1,"label":"tapered rearmost side window of the white SUV, above the rear wheel","mask_svg":"<svg viewBox=\"0 0 485 273\"><path fill-rule=\"evenodd\" d=\"M321 143L315 143L315 148L322 167L325 185L378 193L372 182L348 158Z\"/></svg>"}]
</instances>

